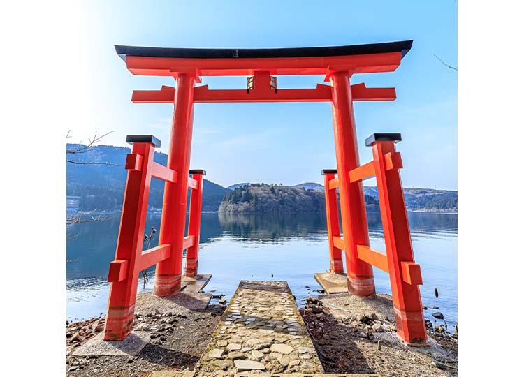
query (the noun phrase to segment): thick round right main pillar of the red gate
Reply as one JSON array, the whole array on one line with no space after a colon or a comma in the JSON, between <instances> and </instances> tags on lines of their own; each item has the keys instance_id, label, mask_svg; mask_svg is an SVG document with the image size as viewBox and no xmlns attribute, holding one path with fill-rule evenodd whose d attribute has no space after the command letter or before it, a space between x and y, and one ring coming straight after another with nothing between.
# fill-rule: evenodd
<instances>
[{"instance_id":1,"label":"thick round right main pillar of the red gate","mask_svg":"<svg viewBox=\"0 0 524 377\"><path fill-rule=\"evenodd\" d=\"M353 99L347 71L330 75L333 87L333 131L340 194L344 254L346 256L347 287L358 296L374 293L373 269L358 259L357 245L369 246L362 182L349 182L349 171L358 167L358 147L353 112Z\"/></svg>"}]
</instances>

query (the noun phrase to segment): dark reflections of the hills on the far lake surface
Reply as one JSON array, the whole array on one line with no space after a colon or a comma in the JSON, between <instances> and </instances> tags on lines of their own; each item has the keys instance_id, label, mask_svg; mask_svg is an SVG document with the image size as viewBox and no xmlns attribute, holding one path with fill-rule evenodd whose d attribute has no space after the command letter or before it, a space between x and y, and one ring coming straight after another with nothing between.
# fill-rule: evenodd
<instances>
[{"instance_id":1,"label":"dark reflections of the hills on the far lake surface","mask_svg":"<svg viewBox=\"0 0 524 377\"><path fill-rule=\"evenodd\" d=\"M145 229L160 229L159 214L147 216ZM367 214L370 238L383 237L379 213ZM412 237L456 237L456 214L409 213ZM108 266L115 257L120 219L73 224L68 227L67 278L105 279ZM159 232L157 232L157 235ZM217 242L231 236L235 242L275 244L292 239L326 241L327 228L324 214L203 214L201 245ZM151 247L157 246L158 236Z\"/></svg>"}]
</instances>

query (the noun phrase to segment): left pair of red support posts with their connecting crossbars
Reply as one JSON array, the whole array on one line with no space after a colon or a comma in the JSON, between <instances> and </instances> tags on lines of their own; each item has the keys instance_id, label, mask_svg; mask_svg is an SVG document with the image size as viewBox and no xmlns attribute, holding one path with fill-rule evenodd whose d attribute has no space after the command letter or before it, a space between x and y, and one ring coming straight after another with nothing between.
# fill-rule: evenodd
<instances>
[{"instance_id":1,"label":"left pair of red support posts with their connecting crossbars","mask_svg":"<svg viewBox=\"0 0 524 377\"><path fill-rule=\"evenodd\" d=\"M159 265L173 256L173 246L166 243L165 238L161 239L156 247L142 249L151 177L163 179L166 183L171 184L182 183L178 180L179 175L175 170L153 161L154 148L160 147L160 140L152 135L128 135L126 141L133 143L133 150L126 158L126 169L129 170L129 173L122 207L117 252L115 260L109 265L108 281L112 285L104 333L104 339L108 340L122 340L131 332L140 271L152 265ZM193 174L193 178L186 179L184 182L186 187L189 185L193 189L191 217L189 235L183 237L182 234L181 246L182 249L188 249L188 260L191 260L190 270L196 275L205 170L190 170L189 172Z\"/></svg>"}]
</instances>

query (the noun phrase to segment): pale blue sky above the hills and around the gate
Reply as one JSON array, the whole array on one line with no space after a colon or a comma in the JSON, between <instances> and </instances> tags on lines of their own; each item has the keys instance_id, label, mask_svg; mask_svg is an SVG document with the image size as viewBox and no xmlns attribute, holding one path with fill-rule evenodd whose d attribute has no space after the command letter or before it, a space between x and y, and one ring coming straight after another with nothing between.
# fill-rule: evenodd
<instances>
[{"instance_id":1,"label":"pale blue sky above the hills and around the gate","mask_svg":"<svg viewBox=\"0 0 524 377\"><path fill-rule=\"evenodd\" d=\"M126 145L127 134L150 134L168 151L172 105L131 103L133 89L174 85L170 77L133 76L113 45L156 47L306 47L413 39L393 73L354 75L351 83L395 87L392 102L356 102L361 163L364 140L400 132L406 187L457 188L456 1L89 1L79 16L85 88L83 114L68 141L114 131L104 144ZM80 64L80 63L79 63ZM245 88L245 77L203 77L210 88ZM279 88L314 87L321 76L279 76ZM196 104L191 168L224 186L238 182L322 182L335 167L329 103ZM374 181L365 182L372 185Z\"/></svg>"}]
</instances>

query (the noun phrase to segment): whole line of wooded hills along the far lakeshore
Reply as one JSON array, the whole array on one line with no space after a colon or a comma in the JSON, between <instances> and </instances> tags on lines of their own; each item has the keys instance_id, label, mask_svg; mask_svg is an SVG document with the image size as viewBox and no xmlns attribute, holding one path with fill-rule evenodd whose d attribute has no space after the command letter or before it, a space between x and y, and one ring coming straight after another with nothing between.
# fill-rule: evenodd
<instances>
[{"instance_id":1,"label":"whole line of wooded hills along the far lakeshore","mask_svg":"<svg viewBox=\"0 0 524 377\"><path fill-rule=\"evenodd\" d=\"M71 150L78 148L78 146L80 145L68 144L67 148ZM67 155L68 160L73 161L73 163L67 163L66 192L67 195L80 197L80 210L103 209L118 211L122 209L127 177L127 171L124 169L124 165L126 155L129 154L130 151L131 149L126 147L96 145L87 149L85 153ZM166 165L167 155L155 152L154 161L161 165ZM82 164L86 162L90 164ZM270 191L270 187L273 187L275 192L278 191L282 193L284 198L279 198L278 195L276 198L273 198L272 193L270 193L270 195L262 195L261 198L259 198L260 200L263 200L263 198L270 200L270 202L266 203L267 205L262 206L268 211L269 208L271 208L269 212L282 212L284 209L289 212L323 211L325 209L325 201L323 199L324 188L316 182L303 182L294 186L240 183L225 188L208 179L204 179L202 210L205 212L217 212L222 208L224 212L236 212L242 207L241 212L247 212L249 205L238 205L239 202L247 202L247 200L228 203L226 197L233 193L235 189L240 188L241 190L243 187L254 185L266 187L261 190L264 192ZM233 189L231 189L231 187L233 187ZM310 191L311 193L307 193ZM432 188L404 188L404 193L409 211L457 211L457 191L434 190ZM376 209L376 199L378 197L377 187L364 186L364 194L368 210ZM226 203L222 205L224 201ZM149 207L159 209L162 207L162 202L163 182L159 179L152 179ZM275 205L277 202L279 203L278 207ZM300 203L304 205L303 208L300 207Z\"/></svg>"}]
</instances>

